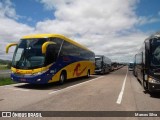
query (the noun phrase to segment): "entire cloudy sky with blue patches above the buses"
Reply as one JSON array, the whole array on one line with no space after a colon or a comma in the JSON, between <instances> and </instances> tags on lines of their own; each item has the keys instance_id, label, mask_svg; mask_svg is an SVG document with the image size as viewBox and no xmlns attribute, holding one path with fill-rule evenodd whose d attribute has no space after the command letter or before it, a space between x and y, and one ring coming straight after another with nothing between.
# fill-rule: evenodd
<instances>
[{"instance_id":1,"label":"entire cloudy sky with blue patches above the buses","mask_svg":"<svg viewBox=\"0 0 160 120\"><path fill-rule=\"evenodd\" d=\"M144 39L160 30L160 0L0 0L0 59L8 43L59 33L112 61L132 61Z\"/></svg>"}]
</instances>

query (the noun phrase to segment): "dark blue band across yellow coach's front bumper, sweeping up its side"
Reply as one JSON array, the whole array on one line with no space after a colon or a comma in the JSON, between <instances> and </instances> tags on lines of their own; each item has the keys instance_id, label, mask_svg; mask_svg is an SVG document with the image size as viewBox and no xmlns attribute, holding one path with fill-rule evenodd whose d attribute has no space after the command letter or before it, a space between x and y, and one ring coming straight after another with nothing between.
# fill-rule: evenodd
<instances>
[{"instance_id":1,"label":"dark blue band across yellow coach's front bumper, sweeping up its side","mask_svg":"<svg viewBox=\"0 0 160 120\"><path fill-rule=\"evenodd\" d=\"M16 74L11 74L11 78L16 81L16 82L24 82L24 83L31 83L31 84L47 84L49 80L52 79L53 74L50 73L50 70L54 70L56 74L59 70L61 70L62 68L68 66L69 64L72 64L74 62L78 62L78 61L83 61L85 59L82 58L78 58L75 56L62 56L59 57L59 59L57 60L57 62L55 64L53 64L48 71L46 71L45 73L42 73L40 75L16 75ZM41 79L40 81L37 81Z\"/></svg>"}]
</instances>

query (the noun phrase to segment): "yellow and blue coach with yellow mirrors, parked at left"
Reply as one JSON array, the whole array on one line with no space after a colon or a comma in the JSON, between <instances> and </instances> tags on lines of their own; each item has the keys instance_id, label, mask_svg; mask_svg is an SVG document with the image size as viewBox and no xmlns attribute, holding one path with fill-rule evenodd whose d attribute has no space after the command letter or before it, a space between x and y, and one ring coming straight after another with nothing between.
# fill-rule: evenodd
<instances>
[{"instance_id":1,"label":"yellow and blue coach with yellow mirrors, parked at left","mask_svg":"<svg viewBox=\"0 0 160 120\"><path fill-rule=\"evenodd\" d=\"M16 46L11 79L16 82L46 84L94 74L95 54L60 34L24 36L6 46Z\"/></svg>"}]
</instances>

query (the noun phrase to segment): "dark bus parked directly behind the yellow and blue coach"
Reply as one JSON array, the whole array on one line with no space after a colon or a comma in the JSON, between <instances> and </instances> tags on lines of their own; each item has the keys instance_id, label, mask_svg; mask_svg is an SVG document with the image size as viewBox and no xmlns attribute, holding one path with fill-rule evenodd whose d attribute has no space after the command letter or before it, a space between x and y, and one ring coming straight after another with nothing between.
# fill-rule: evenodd
<instances>
[{"instance_id":1,"label":"dark bus parked directly behind the yellow and blue coach","mask_svg":"<svg viewBox=\"0 0 160 120\"><path fill-rule=\"evenodd\" d=\"M105 57L104 55L96 55L95 63L95 73L105 74L111 71L111 60L108 57Z\"/></svg>"}]
</instances>

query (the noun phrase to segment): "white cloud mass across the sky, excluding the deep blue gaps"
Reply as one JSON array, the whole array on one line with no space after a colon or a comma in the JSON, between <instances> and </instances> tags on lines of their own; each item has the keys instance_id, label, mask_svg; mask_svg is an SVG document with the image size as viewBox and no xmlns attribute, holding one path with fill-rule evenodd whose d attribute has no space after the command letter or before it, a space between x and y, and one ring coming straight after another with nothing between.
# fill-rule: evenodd
<instances>
[{"instance_id":1,"label":"white cloud mass across the sky, excluding the deep blue gaps","mask_svg":"<svg viewBox=\"0 0 160 120\"><path fill-rule=\"evenodd\" d=\"M35 27L16 21L18 15L10 0L7 0L8 3L0 2L2 50L7 43L17 41L25 34L60 33L87 46L96 54L104 54L117 61L130 61L146 38L146 34L136 30L135 26L147 24L148 20L156 21L136 15L139 0L37 1L45 9L52 10L55 19L39 21Z\"/></svg>"}]
</instances>

